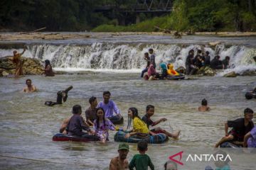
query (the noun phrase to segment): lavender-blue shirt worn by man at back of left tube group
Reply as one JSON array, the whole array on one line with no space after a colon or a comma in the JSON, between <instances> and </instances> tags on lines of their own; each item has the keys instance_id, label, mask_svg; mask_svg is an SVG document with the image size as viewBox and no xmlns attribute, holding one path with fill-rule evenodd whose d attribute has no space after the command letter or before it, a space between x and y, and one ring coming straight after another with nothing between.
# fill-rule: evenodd
<instances>
[{"instance_id":1,"label":"lavender-blue shirt worn by man at back of left tube group","mask_svg":"<svg viewBox=\"0 0 256 170\"><path fill-rule=\"evenodd\" d=\"M105 118L111 118L114 113L120 114L119 108L117 107L116 103L114 101L109 101L107 104L104 103L104 101L100 101L98 103L97 108L103 108L105 111Z\"/></svg>"}]
</instances>

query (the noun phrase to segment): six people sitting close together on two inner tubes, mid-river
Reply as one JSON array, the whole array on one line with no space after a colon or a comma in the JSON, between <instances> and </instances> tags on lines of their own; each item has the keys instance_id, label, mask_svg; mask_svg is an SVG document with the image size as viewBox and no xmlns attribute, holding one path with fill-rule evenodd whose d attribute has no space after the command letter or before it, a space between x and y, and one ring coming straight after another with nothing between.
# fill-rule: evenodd
<instances>
[{"instance_id":1,"label":"six people sitting close together on two inner tubes, mid-river","mask_svg":"<svg viewBox=\"0 0 256 170\"><path fill-rule=\"evenodd\" d=\"M92 96L89 99L90 106L85 111L85 119L81 116L81 106L73 106L73 116L64 120L60 127L60 132L73 136L82 136L85 135L82 130L87 130L90 135L97 135L97 137L100 137L100 141L107 142L107 140L109 140L109 130L124 130L124 128L115 126L111 121L113 118L121 118L122 115L120 114L117 104L110 99L110 96L110 91L104 91L103 101L100 101L100 103L97 103L97 98ZM114 113L116 115L114 115ZM178 138L180 131L172 134L171 132L167 132L161 128L149 130L149 126L155 126L166 121L166 118L161 118L154 122L151 120L152 115L154 115L154 106L152 105L146 106L146 114L143 118L139 117L137 108L129 108L127 130L129 130L131 124L133 127L132 130L127 132L125 137L128 138L133 135L145 136L149 134L155 135L156 133L164 133L169 137L173 137L175 139ZM93 130L90 129L90 126L93 126Z\"/></svg>"}]
</instances>

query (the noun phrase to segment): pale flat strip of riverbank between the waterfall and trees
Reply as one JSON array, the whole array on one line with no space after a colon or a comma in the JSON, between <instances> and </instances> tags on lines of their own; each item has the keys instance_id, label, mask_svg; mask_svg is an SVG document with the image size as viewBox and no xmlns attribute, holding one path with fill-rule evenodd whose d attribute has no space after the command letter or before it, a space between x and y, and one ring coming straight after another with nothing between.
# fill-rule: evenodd
<instances>
[{"instance_id":1,"label":"pale flat strip of riverbank between the waterfall and trees","mask_svg":"<svg viewBox=\"0 0 256 170\"><path fill-rule=\"evenodd\" d=\"M72 39L87 39L87 38L104 38L122 35L174 35L175 31L170 33L163 32L117 32L117 33L89 33L89 32L75 32L75 33L0 33L0 41L14 41L14 40L72 40ZM186 33L181 33L186 36ZM220 37L242 37L242 36L256 36L256 32L198 32L193 35L214 35Z\"/></svg>"}]
</instances>

